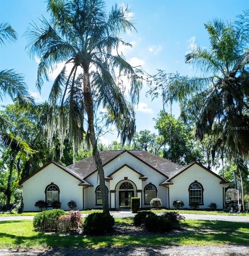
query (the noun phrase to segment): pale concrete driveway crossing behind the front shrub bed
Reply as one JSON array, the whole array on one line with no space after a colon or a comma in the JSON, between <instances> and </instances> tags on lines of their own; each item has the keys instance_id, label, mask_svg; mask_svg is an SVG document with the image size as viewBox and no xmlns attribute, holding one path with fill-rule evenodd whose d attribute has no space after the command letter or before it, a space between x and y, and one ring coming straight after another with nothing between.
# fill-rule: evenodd
<instances>
[{"instance_id":1,"label":"pale concrete driveway crossing behind the front shrub bed","mask_svg":"<svg viewBox=\"0 0 249 256\"><path fill-rule=\"evenodd\" d=\"M134 217L135 213L129 211L111 212L114 217ZM159 213L160 214L160 213ZM86 217L88 214L82 214ZM233 216L233 215L205 215L205 214L181 214L186 220L204 220L204 221L231 221L231 222L249 222L249 216ZM2 216L0 221L20 221L33 220L34 216Z\"/></svg>"}]
</instances>

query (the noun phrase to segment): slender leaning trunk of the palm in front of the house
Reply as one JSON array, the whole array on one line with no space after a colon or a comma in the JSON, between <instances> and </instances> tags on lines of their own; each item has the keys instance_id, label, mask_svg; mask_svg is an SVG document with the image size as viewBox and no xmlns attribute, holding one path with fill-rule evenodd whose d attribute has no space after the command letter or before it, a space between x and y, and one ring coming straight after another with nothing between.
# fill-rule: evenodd
<instances>
[{"instance_id":1,"label":"slender leaning trunk of the palm in front of the house","mask_svg":"<svg viewBox=\"0 0 249 256\"><path fill-rule=\"evenodd\" d=\"M100 189L101 189L101 195L102 195L103 212L109 214L107 193L106 193L106 187L105 187L105 174L104 174L104 169L102 167L100 152L97 147L97 140L96 140L95 130L94 130L93 99L92 99L91 85L90 85L90 79L89 79L89 65L87 65L87 67L84 67L83 83L84 83L84 86L83 86L84 101L85 101L85 108L88 116L88 130L90 133L90 141L92 144L92 153L93 153L96 168L98 170L98 174L100 177Z\"/></svg>"}]
</instances>

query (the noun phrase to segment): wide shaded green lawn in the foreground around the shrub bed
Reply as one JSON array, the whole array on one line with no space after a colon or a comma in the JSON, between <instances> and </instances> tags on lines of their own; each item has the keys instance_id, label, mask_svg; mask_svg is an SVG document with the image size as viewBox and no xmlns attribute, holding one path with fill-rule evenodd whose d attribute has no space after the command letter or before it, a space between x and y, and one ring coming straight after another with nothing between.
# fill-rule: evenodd
<instances>
[{"instance_id":1,"label":"wide shaded green lawn in the foreground around the shrub bed","mask_svg":"<svg viewBox=\"0 0 249 256\"><path fill-rule=\"evenodd\" d=\"M131 223L132 219L115 221ZM5 221L0 222L0 248L249 244L249 223L186 220L181 226L185 229L184 232L169 234L60 236L34 232L30 220Z\"/></svg>"}]
</instances>

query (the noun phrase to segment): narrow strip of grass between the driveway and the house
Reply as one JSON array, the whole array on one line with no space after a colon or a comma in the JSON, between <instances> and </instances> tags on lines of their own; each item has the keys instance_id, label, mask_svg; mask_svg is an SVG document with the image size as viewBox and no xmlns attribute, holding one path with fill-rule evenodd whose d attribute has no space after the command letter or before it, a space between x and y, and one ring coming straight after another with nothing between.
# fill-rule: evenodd
<instances>
[{"instance_id":1,"label":"narrow strip of grass between the driveway and the house","mask_svg":"<svg viewBox=\"0 0 249 256\"><path fill-rule=\"evenodd\" d=\"M146 210L146 209L143 209ZM149 210L149 209L148 209ZM189 213L189 214L210 214L210 215L235 215L235 216L249 216L249 213L229 213L224 211L204 211L204 210L152 210L155 213L161 213L161 212L169 212L169 211L176 211L179 213ZM80 211L83 214L86 213L93 213L93 212L102 212L102 210L84 210ZM0 213L0 216L35 216L37 212L23 212L23 213Z\"/></svg>"}]
</instances>

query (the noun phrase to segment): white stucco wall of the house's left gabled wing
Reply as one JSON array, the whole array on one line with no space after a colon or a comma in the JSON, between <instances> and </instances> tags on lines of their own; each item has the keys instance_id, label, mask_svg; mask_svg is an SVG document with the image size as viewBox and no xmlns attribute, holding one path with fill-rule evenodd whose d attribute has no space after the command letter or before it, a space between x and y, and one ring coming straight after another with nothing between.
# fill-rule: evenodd
<instances>
[{"instance_id":1,"label":"white stucco wall of the house's left gabled wing","mask_svg":"<svg viewBox=\"0 0 249 256\"><path fill-rule=\"evenodd\" d=\"M77 203L77 209L82 210L82 186L78 186L80 181L51 163L22 184L24 211L39 210L34 204L38 200L45 201L45 188L51 182L60 189L61 209L69 210L67 202L74 200Z\"/></svg>"}]
</instances>

